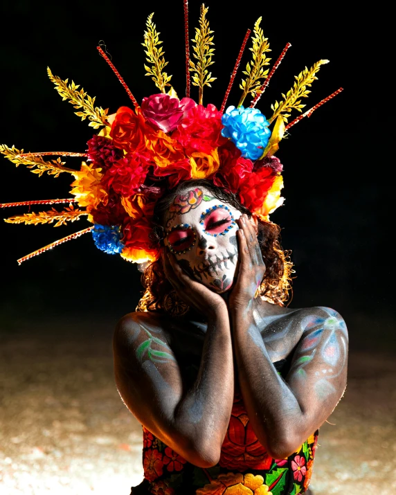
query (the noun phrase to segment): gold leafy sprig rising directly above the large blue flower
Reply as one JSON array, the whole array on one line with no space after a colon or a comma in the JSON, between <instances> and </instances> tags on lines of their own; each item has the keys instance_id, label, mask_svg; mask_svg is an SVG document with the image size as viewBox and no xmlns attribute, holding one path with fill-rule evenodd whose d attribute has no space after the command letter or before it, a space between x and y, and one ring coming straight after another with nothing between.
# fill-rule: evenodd
<instances>
[{"instance_id":1,"label":"gold leafy sprig rising directly above the large blue flower","mask_svg":"<svg viewBox=\"0 0 396 495\"><path fill-rule=\"evenodd\" d=\"M240 84L240 89L243 90L240 102L238 103L238 108L244 102L246 96L251 93L252 96L260 90L261 80L266 79L268 76L269 69L265 70L264 67L269 65L270 58L265 55L267 52L271 51L269 48L268 38L264 37L264 32L260 28L260 22L262 17L259 17L255 21L254 25L254 36L252 38L253 46L249 50L253 53L253 60L248 62L246 65L246 71L243 73L247 76L245 80L242 80Z\"/></svg>"}]
</instances>

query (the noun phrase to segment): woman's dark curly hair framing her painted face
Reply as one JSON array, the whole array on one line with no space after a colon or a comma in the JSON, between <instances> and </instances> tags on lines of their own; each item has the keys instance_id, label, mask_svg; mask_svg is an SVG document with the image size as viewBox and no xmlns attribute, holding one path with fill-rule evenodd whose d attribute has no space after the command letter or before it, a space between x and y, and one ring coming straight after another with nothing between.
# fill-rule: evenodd
<instances>
[{"instance_id":1,"label":"woman's dark curly hair framing her painted face","mask_svg":"<svg viewBox=\"0 0 396 495\"><path fill-rule=\"evenodd\" d=\"M190 188L205 188L210 191L213 197L219 199L230 206L233 206L241 213L246 213L251 217L251 213L245 208L232 192L215 186L205 179L197 179L180 183L179 186L170 190L157 201L154 209L154 230L152 235L156 237L163 246L165 230L163 220L172 201L177 195L182 194ZM284 306L289 300L291 289L291 273L293 264L289 260L289 251L284 251L280 245L280 227L272 222L263 222L258 219L258 242L262 253L266 270L262 282L255 296L267 300L267 302ZM158 312L164 310L164 298L173 290L170 282L165 278L163 271L162 257L150 264L147 264L142 274L142 285L144 294L139 300L136 311Z\"/></svg>"}]
</instances>

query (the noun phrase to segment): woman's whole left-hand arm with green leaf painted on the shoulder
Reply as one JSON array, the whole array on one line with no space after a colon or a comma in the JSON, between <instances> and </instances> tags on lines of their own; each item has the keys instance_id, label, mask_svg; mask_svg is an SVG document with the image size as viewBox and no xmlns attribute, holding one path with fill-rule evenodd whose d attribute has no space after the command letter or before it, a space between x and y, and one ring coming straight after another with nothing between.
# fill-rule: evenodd
<instances>
[{"instance_id":1,"label":"woman's whole left-hand arm with green leaf painted on the shoulder","mask_svg":"<svg viewBox=\"0 0 396 495\"><path fill-rule=\"evenodd\" d=\"M172 283L178 285L179 291L192 291L201 312L208 314L208 330L195 384L190 390L184 388L165 334L159 325L152 324L153 318L147 314L126 316L116 328L116 384L139 422L192 464L210 467L219 460L233 404L228 312L220 297L213 304L213 292L191 280L177 264L172 266L178 278ZM199 291L207 293L202 296ZM211 303L206 297L210 297ZM191 300L186 302L192 304Z\"/></svg>"}]
</instances>

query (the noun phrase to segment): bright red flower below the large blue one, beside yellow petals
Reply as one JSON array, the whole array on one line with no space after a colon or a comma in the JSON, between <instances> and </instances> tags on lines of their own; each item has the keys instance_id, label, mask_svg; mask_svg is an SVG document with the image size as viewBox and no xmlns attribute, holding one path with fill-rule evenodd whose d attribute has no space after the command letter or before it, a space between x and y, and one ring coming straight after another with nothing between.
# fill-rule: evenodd
<instances>
[{"instance_id":1,"label":"bright red flower below the large blue one, beside yellow petals","mask_svg":"<svg viewBox=\"0 0 396 495\"><path fill-rule=\"evenodd\" d=\"M278 175L271 167L262 167L257 172L246 174L240 182L241 203L250 211L259 210Z\"/></svg>"}]
</instances>

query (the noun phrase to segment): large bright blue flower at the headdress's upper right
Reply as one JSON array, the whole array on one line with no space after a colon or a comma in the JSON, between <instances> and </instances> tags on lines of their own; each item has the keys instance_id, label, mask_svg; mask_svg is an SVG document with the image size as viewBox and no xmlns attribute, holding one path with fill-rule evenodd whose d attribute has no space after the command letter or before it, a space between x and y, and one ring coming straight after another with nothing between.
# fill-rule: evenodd
<instances>
[{"instance_id":1,"label":"large bright blue flower at the headdress's upper right","mask_svg":"<svg viewBox=\"0 0 396 495\"><path fill-rule=\"evenodd\" d=\"M271 131L269 122L255 108L228 107L222 116L222 136L231 138L244 158L258 160L267 146Z\"/></svg>"}]
</instances>

